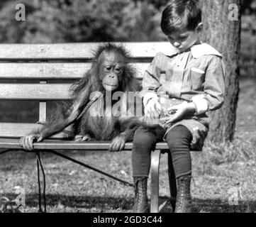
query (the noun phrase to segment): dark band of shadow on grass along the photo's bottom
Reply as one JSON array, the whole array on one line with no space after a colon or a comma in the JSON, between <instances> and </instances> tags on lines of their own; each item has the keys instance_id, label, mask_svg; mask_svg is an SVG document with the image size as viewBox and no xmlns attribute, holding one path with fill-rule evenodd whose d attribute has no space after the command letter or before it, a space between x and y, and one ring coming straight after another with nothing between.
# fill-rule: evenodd
<instances>
[{"instance_id":1,"label":"dark band of shadow on grass along the photo's bottom","mask_svg":"<svg viewBox=\"0 0 256 227\"><path fill-rule=\"evenodd\" d=\"M16 194L3 194L9 199L15 199ZM160 204L167 197L160 197ZM150 202L150 201L149 201ZM133 209L133 198L116 198L110 196L67 196L62 194L47 194L46 204L56 207L58 204L74 209L87 209L98 212L108 212L109 210L118 210L118 212L131 212ZM38 194L26 195L26 206L38 208ZM56 212L61 211L56 209ZM63 210L62 210L63 211ZM193 199L193 213L254 213L256 211L256 201L239 201L237 206L230 206L228 201L219 199ZM172 213L172 207L167 205L161 213Z\"/></svg>"}]
</instances>

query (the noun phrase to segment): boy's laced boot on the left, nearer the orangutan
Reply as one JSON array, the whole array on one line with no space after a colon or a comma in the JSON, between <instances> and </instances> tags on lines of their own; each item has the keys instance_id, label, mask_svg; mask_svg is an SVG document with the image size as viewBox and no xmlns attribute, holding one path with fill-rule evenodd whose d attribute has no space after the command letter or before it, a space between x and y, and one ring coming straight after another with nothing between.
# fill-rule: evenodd
<instances>
[{"instance_id":1,"label":"boy's laced boot on the left, nearer the orangutan","mask_svg":"<svg viewBox=\"0 0 256 227\"><path fill-rule=\"evenodd\" d=\"M134 213L149 213L150 209L148 206L148 196L147 196L147 184L148 178L141 177L134 178L134 192L135 201L133 206Z\"/></svg>"}]
</instances>

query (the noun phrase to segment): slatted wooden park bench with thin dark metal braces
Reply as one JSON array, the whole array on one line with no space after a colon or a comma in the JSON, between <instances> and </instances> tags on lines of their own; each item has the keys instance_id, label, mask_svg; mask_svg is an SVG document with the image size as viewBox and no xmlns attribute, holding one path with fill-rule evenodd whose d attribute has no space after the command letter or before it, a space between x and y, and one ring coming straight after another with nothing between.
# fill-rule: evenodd
<instances>
[{"instance_id":1,"label":"slatted wooden park bench with thin dark metal braces","mask_svg":"<svg viewBox=\"0 0 256 227\"><path fill-rule=\"evenodd\" d=\"M62 43L62 44L2 44L0 45L0 101L27 100L39 101L39 121L45 121L48 111L47 101L68 100L69 87L84 72L89 70L92 53L99 43ZM136 77L141 82L143 72L157 52L168 54L169 43L123 43L130 51L132 64L137 70ZM0 111L4 111L0 109ZM18 115L19 113L17 113ZM19 138L40 127L38 123L0 123L0 154L12 150L22 150ZM40 152L50 152L76 162L84 167L117 179L132 186L118 177L72 159L60 150L108 150L109 141L74 142L63 140L62 133L52 136L41 143L35 143L38 167L39 206L41 206L40 170L43 172L45 196L45 172L40 162ZM124 150L132 150L133 144L126 143ZM166 143L157 143L152 153L151 163L151 203L150 211L158 212L159 204L159 166L160 155L168 149ZM104 161L104 160L103 160ZM176 180L169 155L169 183L172 203L177 194ZM45 198L44 198L45 199ZM40 211L42 209L40 208ZM45 206L46 211L46 206Z\"/></svg>"}]
</instances>

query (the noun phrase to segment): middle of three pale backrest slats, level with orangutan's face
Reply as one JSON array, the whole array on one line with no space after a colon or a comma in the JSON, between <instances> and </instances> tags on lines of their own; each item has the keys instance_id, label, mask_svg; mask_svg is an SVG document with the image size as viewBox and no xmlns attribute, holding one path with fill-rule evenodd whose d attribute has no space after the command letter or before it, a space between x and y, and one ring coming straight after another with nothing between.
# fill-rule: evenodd
<instances>
[{"instance_id":1,"label":"middle of three pale backrest slats, level with orangutan's face","mask_svg":"<svg viewBox=\"0 0 256 227\"><path fill-rule=\"evenodd\" d=\"M131 64L136 77L142 79L149 63ZM4 63L0 62L0 79L81 79L91 63Z\"/></svg>"}]
</instances>

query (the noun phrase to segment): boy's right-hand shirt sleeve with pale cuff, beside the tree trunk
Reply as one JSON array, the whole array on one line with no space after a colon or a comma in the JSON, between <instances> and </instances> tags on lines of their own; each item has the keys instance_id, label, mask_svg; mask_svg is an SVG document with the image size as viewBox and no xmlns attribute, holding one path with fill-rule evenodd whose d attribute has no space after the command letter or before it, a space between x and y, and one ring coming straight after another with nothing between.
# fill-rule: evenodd
<instances>
[{"instance_id":1,"label":"boy's right-hand shirt sleeve with pale cuff, beside the tree trunk","mask_svg":"<svg viewBox=\"0 0 256 227\"><path fill-rule=\"evenodd\" d=\"M191 98L196 105L196 115L220 109L224 102L225 65L221 57L213 56L205 74L204 94Z\"/></svg>"}]
</instances>

